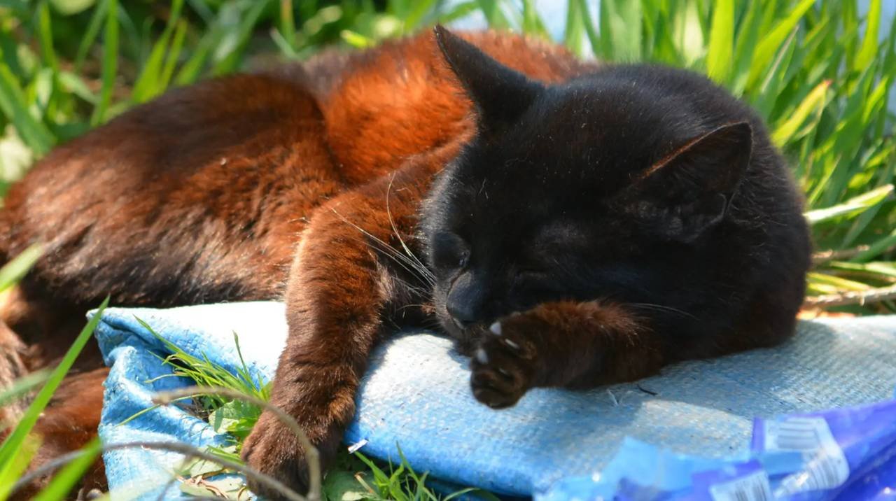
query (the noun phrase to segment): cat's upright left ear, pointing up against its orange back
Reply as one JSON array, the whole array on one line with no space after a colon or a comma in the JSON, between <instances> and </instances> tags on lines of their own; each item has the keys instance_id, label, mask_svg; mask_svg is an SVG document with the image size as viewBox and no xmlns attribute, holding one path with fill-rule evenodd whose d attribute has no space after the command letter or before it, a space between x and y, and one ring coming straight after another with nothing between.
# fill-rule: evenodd
<instances>
[{"instance_id":1,"label":"cat's upright left ear, pointing up against its orange back","mask_svg":"<svg viewBox=\"0 0 896 501\"><path fill-rule=\"evenodd\" d=\"M445 61L476 107L480 130L495 132L513 123L544 91L542 84L498 63L443 26L434 31Z\"/></svg>"}]
</instances>

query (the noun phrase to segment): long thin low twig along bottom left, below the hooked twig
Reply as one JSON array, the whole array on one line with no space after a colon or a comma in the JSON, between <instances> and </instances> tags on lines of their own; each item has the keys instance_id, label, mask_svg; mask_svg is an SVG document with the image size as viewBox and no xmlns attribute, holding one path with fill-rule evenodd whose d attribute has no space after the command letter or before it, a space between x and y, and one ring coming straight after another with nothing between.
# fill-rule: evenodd
<instances>
[{"instance_id":1,"label":"long thin low twig along bottom left, below the hooked twig","mask_svg":"<svg viewBox=\"0 0 896 501\"><path fill-rule=\"evenodd\" d=\"M180 442L125 442L120 444L107 444L100 445L100 449L102 452L115 451L118 449L134 449L134 448L143 448L143 449L153 449L157 451L168 451L171 453L180 453L184 454L187 457L195 457L208 462L215 462L224 466L225 468L229 468L234 471L238 471L244 475L246 475L247 479L254 479L256 482L260 484L264 484L265 486L272 488L280 493L283 497L290 499L292 501L306 501L305 497L299 496L296 491L288 488L283 485L280 480L274 479L273 477L269 477L265 475L261 471L256 471L252 467L246 464L240 464L238 462L228 461L226 459L222 459L214 454L206 453L200 449L197 449L193 445L187 445ZM29 484L32 480L37 479L42 475L46 475L50 471L54 471L57 468L72 462L73 460L82 456L83 451L74 451L72 453L66 453L61 456L54 458L52 461L45 462L40 465L39 468L30 471L26 475L22 476L21 479L15 482L13 485L12 494L16 490L24 487Z\"/></svg>"}]
</instances>

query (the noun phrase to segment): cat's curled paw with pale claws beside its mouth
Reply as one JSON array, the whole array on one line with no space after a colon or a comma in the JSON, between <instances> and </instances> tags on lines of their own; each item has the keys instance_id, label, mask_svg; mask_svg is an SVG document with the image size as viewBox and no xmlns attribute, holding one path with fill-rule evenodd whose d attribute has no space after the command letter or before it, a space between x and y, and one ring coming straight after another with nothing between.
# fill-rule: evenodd
<instances>
[{"instance_id":1,"label":"cat's curled paw with pale claws beside its mouth","mask_svg":"<svg viewBox=\"0 0 896 501\"><path fill-rule=\"evenodd\" d=\"M504 409L529 391L537 356L531 327L527 315L513 315L489 327L470 362L470 385L476 400Z\"/></svg>"}]
</instances>

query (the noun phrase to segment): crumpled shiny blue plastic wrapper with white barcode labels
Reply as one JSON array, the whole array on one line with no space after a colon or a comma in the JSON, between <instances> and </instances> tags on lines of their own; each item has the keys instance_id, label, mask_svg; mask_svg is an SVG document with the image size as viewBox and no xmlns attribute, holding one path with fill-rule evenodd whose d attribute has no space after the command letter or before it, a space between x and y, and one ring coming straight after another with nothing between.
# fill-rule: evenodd
<instances>
[{"instance_id":1,"label":"crumpled shiny blue plastic wrapper with white barcode labels","mask_svg":"<svg viewBox=\"0 0 896 501\"><path fill-rule=\"evenodd\" d=\"M896 499L896 401L755 419L748 455L720 461L629 439L600 474L539 499Z\"/></svg>"}]
</instances>

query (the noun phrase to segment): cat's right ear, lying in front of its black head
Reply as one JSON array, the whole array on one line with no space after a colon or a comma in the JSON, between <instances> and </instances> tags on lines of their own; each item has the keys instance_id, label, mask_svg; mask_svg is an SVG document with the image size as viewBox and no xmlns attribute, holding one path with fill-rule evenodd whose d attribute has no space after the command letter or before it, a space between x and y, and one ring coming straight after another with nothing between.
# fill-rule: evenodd
<instances>
[{"instance_id":1,"label":"cat's right ear, lying in front of its black head","mask_svg":"<svg viewBox=\"0 0 896 501\"><path fill-rule=\"evenodd\" d=\"M747 122L694 138L635 183L642 209L651 213L664 237L694 241L725 217L752 152L753 128Z\"/></svg>"}]
</instances>

